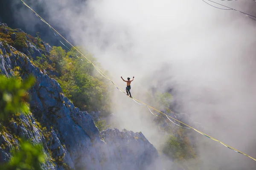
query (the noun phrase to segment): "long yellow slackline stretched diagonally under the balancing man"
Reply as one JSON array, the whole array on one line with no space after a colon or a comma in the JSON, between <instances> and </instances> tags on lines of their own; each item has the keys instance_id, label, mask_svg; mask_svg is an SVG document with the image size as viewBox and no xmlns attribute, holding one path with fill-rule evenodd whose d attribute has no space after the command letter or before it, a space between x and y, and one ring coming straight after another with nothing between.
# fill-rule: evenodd
<instances>
[{"instance_id":1,"label":"long yellow slackline stretched diagonally under the balancing man","mask_svg":"<svg viewBox=\"0 0 256 170\"><path fill-rule=\"evenodd\" d=\"M96 68L96 70L97 70L103 77L105 77L106 79L109 79L109 80L113 83L113 85L116 86L116 88L117 88L119 91L122 91L123 93L125 93L125 91L123 91L122 88L120 88L115 82L113 82L103 71L101 71L96 65L94 65L93 62L91 62L91 61L90 61L87 57L85 57L84 54L82 54L75 46L73 46L73 45L72 45L68 40L66 40L60 33L58 33L58 31L56 31L52 26L50 26L49 23L47 23L40 15L38 15L32 8L30 8L23 0L21 0L21 1L22 1L22 2L24 3L24 5L26 5L29 9L31 9L31 10L36 14L36 16L40 17L40 19L41 19L44 23L46 23L50 28L52 28L52 29L53 29L57 34L59 34L65 41L67 41L74 49L76 49L76 51L78 51L85 59L87 59L87 60L89 61L89 63L91 63L91 64L93 65L93 67ZM125 93L125 94L126 94L126 93ZM163 113L163 112L161 112L161 111L159 111L159 110L157 110L157 109L155 109L155 108L153 108L153 107L151 107L151 106L149 106L149 105L147 105L147 104L141 102L141 101L138 100L138 99L135 99L135 98L132 98L132 99L134 99L135 102L137 101L137 102L140 102L140 103L142 103L143 105L147 106L148 109L149 109L149 108L154 109L155 111L157 111L157 112L159 112L159 113L161 113L161 114L164 114L165 116L167 116L167 117L169 117L169 118L171 118L171 119L173 119L173 120L175 120L175 121L177 121L177 122L180 122L179 120L173 118L172 116L169 116L169 115L167 115L166 113ZM140 103L139 103L139 104L140 104ZM150 111L150 110L149 110L149 111ZM151 112L151 111L150 111L150 112ZM151 112L151 113L152 113L152 112ZM152 113L152 114L153 114L153 113ZM248 156L249 158L251 158L251 159L253 159L254 161L256 161L256 159L254 159L253 157L251 157L251 156L249 156L249 155L247 155L247 154L245 154L245 153L243 153L243 152L241 152L241 151L239 151L239 150L237 150L237 149L235 149L235 148L233 148L233 147L231 147L231 146L229 146L229 145L227 145L227 144L225 144L225 143L219 141L218 139L215 139L215 138L213 138L213 137L207 135L206 133L203 133L203 132L201 132L201 131L199 131L199 130L197 130L197 129L195 129L195 128L193 128L193 127L191 127L191 126L189 126L189 125L187 125L187 124L185 124L185 123L183 123L183 122L180 122L180 123L183 124L183 125L185 125L185 126L187 126L187 127L189 127L189 128L191 128L191 129L193 129L193 130L195 130L196 132L198 132L198 133L200 133L200 134L202 134L202 135L208 137L209 139L212 139L212 140L214 140L214 141L216 141L216 142L220 142L221 144L223 144L224 146L228 147L229 149L234 150L234 151L236 151L237 153L241 153L241 154L243 154L243 155L245 155L245 156Z\"/></svg>"}]
</instances>

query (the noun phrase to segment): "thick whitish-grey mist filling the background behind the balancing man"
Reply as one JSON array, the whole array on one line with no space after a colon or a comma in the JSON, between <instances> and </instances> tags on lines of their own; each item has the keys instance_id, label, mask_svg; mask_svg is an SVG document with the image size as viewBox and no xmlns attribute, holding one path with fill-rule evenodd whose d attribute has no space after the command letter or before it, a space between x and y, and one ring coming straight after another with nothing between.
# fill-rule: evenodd
<instances>
[{"instance_id":1,"label":"thick whitish-grey mist filling the background behind the balancing man","mask_svg":"<svg viewBox=\"0 0 256 170\"><path fill-rule=\"evenodd\" d=\"M255 13L253 0L215 1ZM135 98L145 101L151 87L173 88L180 110L200 123L199 130L256 157L256 21L202 0L35 2L49 14L49 23L92 52L118 85L125 88L120 76L135 76ZM39 20L26 8L16 12L24 24ZM160 139L147 108L119 91L113 102L113 124L142 131L157 146ZM256 161L204 136L198 139L203 170L255 169Z\"/></svg>"}]
</instances>

